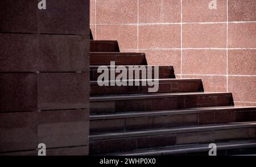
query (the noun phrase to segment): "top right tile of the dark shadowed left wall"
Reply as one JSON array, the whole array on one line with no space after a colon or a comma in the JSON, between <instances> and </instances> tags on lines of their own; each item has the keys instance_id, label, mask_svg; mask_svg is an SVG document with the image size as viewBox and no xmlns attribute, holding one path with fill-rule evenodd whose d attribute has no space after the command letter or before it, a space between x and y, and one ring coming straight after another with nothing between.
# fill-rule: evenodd
<instances>
[{"instance_id":1,"label":"top right tile of the dark shadowed left wall","mask_svg":"<svg viewBox=\"0 0 256 167\"><path fill-rule=\"evenodd\" d=\"M89 1L84 0L47 0L47 9L38 10L38 31L88 35L89 8Z\"/></svg>"}]
</instances>

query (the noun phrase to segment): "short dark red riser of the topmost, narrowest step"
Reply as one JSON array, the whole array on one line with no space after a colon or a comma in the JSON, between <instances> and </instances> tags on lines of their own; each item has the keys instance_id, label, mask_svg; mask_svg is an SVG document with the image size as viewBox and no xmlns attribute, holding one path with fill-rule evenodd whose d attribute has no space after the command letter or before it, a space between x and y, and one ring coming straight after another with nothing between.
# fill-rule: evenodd
<instances>
[{"instance_id":1,"label":"short dark red riser of the topmost, narrowest step","mask_svg":"<svg viewBox=\"0 0 256 167\"><path fill-rule=\"evenodd\" d=\"M120 52L116 40L90 40L90 52Z\"/></svg>"}]
</instances>

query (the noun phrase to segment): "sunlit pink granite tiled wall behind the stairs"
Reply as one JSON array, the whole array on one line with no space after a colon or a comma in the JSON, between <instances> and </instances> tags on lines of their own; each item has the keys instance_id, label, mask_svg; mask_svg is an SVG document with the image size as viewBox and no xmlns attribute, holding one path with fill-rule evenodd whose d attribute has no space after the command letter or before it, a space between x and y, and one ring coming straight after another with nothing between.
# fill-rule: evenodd
<instances>
[{"instance_id":1,"label":"sunlit pink granite tiled wall behind the stairs","mask_svg":"<svg viewBox=\"0 0 256 167\"><path fill-rule=\"evenodd\" d=\"M231 91L256 106L256 1L90 0L94 39L174 65L177 78L202 78L206 91Z\"/></svg>"}]
</instances>

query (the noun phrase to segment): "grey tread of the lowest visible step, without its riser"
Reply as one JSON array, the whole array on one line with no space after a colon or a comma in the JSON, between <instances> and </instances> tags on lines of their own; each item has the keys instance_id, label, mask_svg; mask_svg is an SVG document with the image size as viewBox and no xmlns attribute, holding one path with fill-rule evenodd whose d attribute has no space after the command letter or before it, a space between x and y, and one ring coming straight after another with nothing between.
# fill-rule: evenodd
<instances>
[{"instance_id":1,"label":"grey tread of the lowest visible step, without its riser","mask_svg":"<svg viewBox=\"0 0 256 167\"><path fill-rule=\"evenodd\" d=\"M227 149L240 149L240 148L254 148L256 147L256 140L238 140L215 143L217 151ZM143 155L179 155L185 153L208 152L209 144L186 144L174 145L168 147L141 149L129 152L108 153L108 156L143 156Z\"/></svg>"}]
</instances>

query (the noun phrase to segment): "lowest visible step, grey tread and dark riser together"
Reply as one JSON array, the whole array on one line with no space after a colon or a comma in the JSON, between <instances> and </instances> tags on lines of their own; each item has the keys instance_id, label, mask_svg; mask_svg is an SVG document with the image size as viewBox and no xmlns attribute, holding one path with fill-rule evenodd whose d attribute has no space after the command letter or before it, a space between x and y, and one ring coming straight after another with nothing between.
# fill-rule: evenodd
<instances>
[{"instance_id":1,"label":"lowest visible step, grey tread and dark riser together","mask_svg":"<svg viewBox=\"0 0 256 167\"><path fill-rule=\"evenodd\" d=\"M220 142L216 144L217 156L227 155L256 155L256 140L238 140ZM209 144L187 144L170 147L159 147L151 149L141 149L138 151L109 153L106 156L162 156L162 155L204 155L208 156Z\"/></svg>"}]
</instances>

